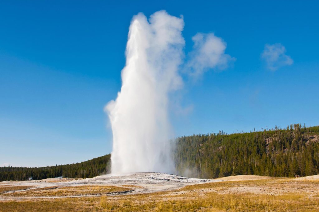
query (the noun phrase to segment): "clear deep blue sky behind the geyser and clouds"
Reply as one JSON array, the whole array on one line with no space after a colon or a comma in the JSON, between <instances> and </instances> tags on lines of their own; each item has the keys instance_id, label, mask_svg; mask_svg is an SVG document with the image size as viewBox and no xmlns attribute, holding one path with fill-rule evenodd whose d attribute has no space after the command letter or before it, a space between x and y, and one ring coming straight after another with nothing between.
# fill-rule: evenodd
<instances>
[{"instance_id":1,"label":"clear deep blue sky behind the geyser and clouds","mask_svg":"<svg viewBox=\"0 0 319 212\"><path fill-rule=\"evenodd\" d=\"M111 152L103 107L121 88L128 27L138 12L183 15L186 54L197 32L213 32L236 58L196 80L183 75L174 94L183 110L171 106L176 136L318 125L318 8L315 1L3 1L0 166ZM271 70L266 44L284 46L293 63Z\"/></svg>"}]
</instances>

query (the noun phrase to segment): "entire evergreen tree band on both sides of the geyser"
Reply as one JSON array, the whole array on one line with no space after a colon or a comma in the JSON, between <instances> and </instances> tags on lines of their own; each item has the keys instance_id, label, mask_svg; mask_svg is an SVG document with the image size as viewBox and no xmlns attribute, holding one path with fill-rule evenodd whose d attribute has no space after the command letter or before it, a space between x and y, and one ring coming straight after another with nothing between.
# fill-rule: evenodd
<instances>
[{"instance_id":1,"label":"entire evergreen tree band on both sides of the geyser","mask_svg":"<svg viewBox=\"0 0 319 212\"><path fill-rule=\"evenodd\" d=\"M0 167L0 181L55 177L88 178L109 173L111 154L81 163L46 167ZM294 177L319 174L319 126L301 124L227 135L223 131L176 139L177 174L218 178L254 174Z\"/></svg>"}]
</instances>

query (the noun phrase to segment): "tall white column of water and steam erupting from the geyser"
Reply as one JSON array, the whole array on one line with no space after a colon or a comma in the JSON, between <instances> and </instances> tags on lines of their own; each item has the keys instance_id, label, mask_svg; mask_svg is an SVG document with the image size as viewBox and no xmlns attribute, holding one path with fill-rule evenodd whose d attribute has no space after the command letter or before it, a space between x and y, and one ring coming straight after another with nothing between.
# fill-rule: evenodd
<instances>
[{"instance_id":1,"label":"tall white column of water and steam erupting from the geyser","mask_svg":"<svg viewBox=\"0 0 319 212\"><path fill-rule=\"evenodd\" d=\"M112 174L174 172L168 94L182 84L182 18L158 11L134 16L122 69L122 88L106 111L113 132Z\"/></svg>"}]
</instances>

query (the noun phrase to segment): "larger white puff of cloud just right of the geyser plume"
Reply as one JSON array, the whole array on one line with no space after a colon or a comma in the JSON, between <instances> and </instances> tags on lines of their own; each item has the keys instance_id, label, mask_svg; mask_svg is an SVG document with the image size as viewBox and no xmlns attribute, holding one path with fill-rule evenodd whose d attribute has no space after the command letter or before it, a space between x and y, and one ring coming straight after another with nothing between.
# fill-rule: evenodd
<instances>
[{"instance_id":1,"label":"larger white puff of cloud just right of the geyser plume","mask_svg":"<svg viewBox=\"0 0 319 212\"><path fill-rule=\"evenodd\" d=\"M203 74L210 68L223 70L229 63L235 61L234 57L225 54L226 42L215 36L214 33L197 33L194 41L193 51L189 54L188 67L194 75Z\"/></svg>"}]
</instances>

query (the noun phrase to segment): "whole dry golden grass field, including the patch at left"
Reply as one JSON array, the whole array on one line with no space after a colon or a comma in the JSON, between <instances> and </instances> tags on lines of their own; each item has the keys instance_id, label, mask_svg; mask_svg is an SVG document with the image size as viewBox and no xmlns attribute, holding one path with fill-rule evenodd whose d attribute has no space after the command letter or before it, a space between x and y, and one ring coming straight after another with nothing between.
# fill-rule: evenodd
<instances>
[{"instance_id":1,"label":"whole dry golden grass field, including the patch at left","mask_svg":"<svg viewBox=\"0 0 319 212\"><path fill-rule=\"evenodd\" d=\"M319 211L318 178L318 175L297 179L241 175L141 194L130 191L143 187L125 184L27 190L17 187L13 194L0 194L0 211ZM99 195L81 196L85 194ZM11 195L25 199L1 200Z\"/></svg>"}]
</instances>

